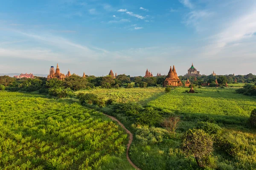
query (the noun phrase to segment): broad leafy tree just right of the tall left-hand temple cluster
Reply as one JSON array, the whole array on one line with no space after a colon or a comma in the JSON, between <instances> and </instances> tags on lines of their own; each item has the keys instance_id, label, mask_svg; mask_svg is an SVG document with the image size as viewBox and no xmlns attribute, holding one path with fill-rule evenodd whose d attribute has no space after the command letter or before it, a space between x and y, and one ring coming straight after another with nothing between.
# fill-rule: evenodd
<instances>
[{"instance_id":1,"label":"broad leafy tree just right of the tall left-hand temple cluster","mask_svg":"<svg viewBox=\"0 0 256 170\"><path fill-rule=\"evenodd\" d=\"M71 88L76 91L86 88L88 82L87 79L73 74L70 77L66 77L63 83L66 88Z\"/></svg>"}]
</instances>

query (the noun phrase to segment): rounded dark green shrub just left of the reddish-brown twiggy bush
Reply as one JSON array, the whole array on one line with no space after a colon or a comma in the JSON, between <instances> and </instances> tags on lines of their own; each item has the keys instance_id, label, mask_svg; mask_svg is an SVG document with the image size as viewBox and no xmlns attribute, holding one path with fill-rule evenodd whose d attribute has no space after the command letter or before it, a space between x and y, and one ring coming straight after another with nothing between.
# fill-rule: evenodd
<instances>
[{"instance_id":1,"label":"rounded dark green shrub just left of the reddish-brown twiggy bush","mask_svg":"<svg viewBox=\"0 0 256 170\"><path fill-rule=\"evenodd\" d=\"M145 108L145 110L140 113L136 119L141 125L154 126L161 122L162 116L159 114L159 111L149 107Z\"/></svg>"}]
</instances>

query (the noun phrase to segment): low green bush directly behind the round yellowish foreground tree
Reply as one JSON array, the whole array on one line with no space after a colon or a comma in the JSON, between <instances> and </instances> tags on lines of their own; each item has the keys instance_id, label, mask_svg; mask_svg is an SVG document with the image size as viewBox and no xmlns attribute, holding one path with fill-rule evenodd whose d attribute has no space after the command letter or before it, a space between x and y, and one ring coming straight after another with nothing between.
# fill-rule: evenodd
<instances>
[{"instance_id":1,"label":"low green bush directly behind the round yellowish foreground tree","mask_svg":"<svg viewBox=\"0 0 256 170\"><path fill-rule=\"evenodd\" d=\"M217 134L217 133L221 132L221 127L219 127L215 123L210 123L210 122L201 122L201 121L199 121L195 128L196 129L202 129L206 133L209 133L211 135L212 134Z\"/></svg>"}]
</instances>

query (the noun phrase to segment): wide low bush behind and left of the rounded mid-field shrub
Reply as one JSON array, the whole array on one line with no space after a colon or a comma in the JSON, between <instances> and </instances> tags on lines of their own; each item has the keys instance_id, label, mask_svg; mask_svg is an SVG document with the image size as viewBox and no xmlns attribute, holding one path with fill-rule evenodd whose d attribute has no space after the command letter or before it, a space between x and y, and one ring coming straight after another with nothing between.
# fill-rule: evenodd
<instances>
[{"instance_id":1,"label":"wide low bush behind and left of the rounded mid-field shrub","mask_svg":"<svg viewBox=\"0 0 256 170\"><path fill-rule=\"evenodd\" d=\"M113 105L113 112L125 114L126 116L138 116L143 107L137 103L116 103Z\"/></svg>"}]
</instances>

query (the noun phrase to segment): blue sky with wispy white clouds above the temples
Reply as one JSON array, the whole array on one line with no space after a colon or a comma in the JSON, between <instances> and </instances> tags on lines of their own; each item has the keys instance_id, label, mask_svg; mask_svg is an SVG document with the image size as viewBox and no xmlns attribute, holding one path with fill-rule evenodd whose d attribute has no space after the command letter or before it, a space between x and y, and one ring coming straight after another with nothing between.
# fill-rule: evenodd
<instances>
[{"instance_id":1,"label":"blue sky with wispy white clouds above the temples","mask_svg":"<svg viewBox=\"0 0 256 170\"><path fill-rule=\"evenodd\" d=\"M256 74L256 0L0 0L0 73Z\"/></svg>"}]
</instances>

